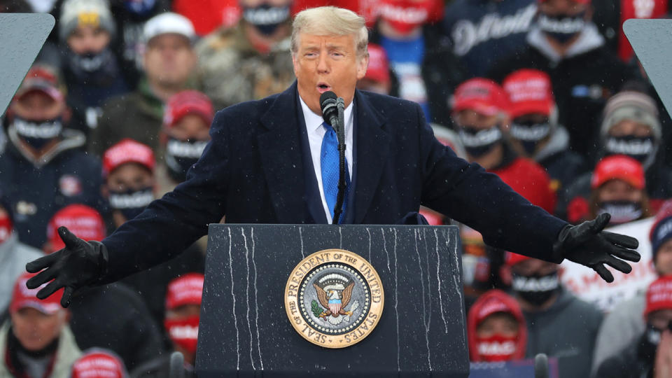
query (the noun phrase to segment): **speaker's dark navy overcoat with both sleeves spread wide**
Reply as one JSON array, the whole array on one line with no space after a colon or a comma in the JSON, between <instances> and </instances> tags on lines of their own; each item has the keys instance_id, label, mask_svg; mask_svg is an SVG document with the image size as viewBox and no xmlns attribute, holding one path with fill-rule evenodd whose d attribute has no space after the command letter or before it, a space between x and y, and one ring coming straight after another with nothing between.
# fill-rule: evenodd
<instances>
[{"instance_id":1,"label":"speaker's dark navy overcoat with both sleeves spread wide","mask_svg":"<svg viewBox=\"0 0 672 378\"><path fill-rule=\"evenodd\" d=\"M305 188L316 179L304 169L296 93L295 83L219 111L187 181L104 239L104 281L167 260L222 216L226 223L314 223ZM417 104L356 90L355 105L352 223L395 223L423 204L479 230L488 244L562 260L552 244L566 223L440 144Z\"/></svg>"}]
</instances>

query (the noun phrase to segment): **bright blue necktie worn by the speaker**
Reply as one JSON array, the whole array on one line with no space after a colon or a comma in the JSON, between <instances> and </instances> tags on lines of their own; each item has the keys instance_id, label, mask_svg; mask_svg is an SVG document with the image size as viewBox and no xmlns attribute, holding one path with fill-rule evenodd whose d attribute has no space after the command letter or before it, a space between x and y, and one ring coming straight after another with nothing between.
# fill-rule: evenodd
<instances>
[{"instance_id":1,"label":"bright blue necktie worn by the speaker","mask_svg":"<svg viewBox=\"0 0 672 378\"><path fill-rule=\"evenodd\" d=\"M322 170L322 188L324 190L324 198L327 201L327 207L334 218L334 207L336 206L336 197L338 195L338 139L336 132L328 123L322 123L326 132L322 139L322 151L320 153L320 167ZM348 191L350 188L350 175L348 173L348 162L345 162L345 183L346 190L343 198L343 212L339 218L338 223L343 223L345 218L345 205L348 202Z\"/></svg>"}]
</instances>

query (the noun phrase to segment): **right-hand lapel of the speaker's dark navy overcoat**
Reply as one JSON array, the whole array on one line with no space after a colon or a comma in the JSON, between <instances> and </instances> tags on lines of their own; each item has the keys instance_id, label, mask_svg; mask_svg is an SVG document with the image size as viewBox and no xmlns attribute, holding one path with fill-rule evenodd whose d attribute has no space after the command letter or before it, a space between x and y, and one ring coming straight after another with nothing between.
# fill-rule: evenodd
<instances>
[{"instance_id":1,"label":"right-hand lapel of the speaker's dark navy overcoat","mask_svg":"<svg viewBox=\"0 0 672 378\"><path fill-rule=\"evenodd\" d=\"M355 219L362 223L371 207L390 150L390 135L383 130L384 117L358 91L355 91L357 133L357 177Z\"/></svg>"}]
</instances>

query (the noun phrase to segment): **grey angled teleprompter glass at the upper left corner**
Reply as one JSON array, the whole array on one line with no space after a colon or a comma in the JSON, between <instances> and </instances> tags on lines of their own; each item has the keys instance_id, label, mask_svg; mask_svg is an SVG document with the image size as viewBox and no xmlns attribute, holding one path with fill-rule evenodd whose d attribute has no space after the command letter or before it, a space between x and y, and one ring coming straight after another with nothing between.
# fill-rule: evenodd
<instances>
[{"instance_id":1,"label":"grey angled teleprompter glass at the upper left corner","mask_svg":"<svg viewBox=\"0 0 672 378\"><path fill-rule=\"evenodd\" d=\"M0 115L54 28L48 13L0 13Z\"/></svg>"}]
</instances>

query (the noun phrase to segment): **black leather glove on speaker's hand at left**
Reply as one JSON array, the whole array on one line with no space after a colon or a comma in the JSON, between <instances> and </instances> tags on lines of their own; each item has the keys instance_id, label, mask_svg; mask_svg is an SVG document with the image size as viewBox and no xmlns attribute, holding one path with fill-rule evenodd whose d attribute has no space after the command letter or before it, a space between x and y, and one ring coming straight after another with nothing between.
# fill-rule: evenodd
<instances>
[{"instance_id":1,"label":"black leather glove on speaker's hand at left","mask_svg":"<svg viewBox=\"0 0 672 378\"><path fill-rule=\"evenodd\" d=\"M51 281L38 291L37 297L44 299L59 288L65 288L61 305L68 307L76 290L101 278L109 259L107 248L100 241L84 241L65 227L58 228L58 235L63 239L65 248L28 262L26 264L28 272L44 270L29 279L26 286L31 289L38 288L43 283Z\"/></svg>"}]
</instances>

